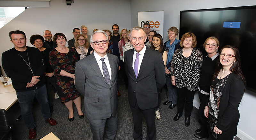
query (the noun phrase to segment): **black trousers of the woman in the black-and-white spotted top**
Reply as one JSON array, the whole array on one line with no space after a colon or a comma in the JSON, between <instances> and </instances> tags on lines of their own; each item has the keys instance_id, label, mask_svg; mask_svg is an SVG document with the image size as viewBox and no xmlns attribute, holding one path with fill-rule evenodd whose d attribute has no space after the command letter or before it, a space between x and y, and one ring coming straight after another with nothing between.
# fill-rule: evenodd
<instances>
[{"instance_id":1,"label":"black trousers of the woman in the black-and-white spotted top","mask_svg":"<svg viewBox=\"0 0 256 140\"><path fill-rule=\"evenodd\" d=\"M190 91L187 88L177 88L178 92L178 113L182 114L186 105L185 116L190 117L193 109L193 100L196 91Z\"/></svg>"}]
</instances>

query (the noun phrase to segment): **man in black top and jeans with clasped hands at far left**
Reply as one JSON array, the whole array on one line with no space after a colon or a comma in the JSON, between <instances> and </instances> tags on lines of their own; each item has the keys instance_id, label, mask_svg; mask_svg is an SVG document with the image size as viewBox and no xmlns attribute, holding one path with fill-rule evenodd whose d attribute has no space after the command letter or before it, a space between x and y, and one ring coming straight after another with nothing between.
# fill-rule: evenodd
<instances>
[{"instance_id":1,"label":"man in black top and jeans with clasped hands at far left","mask_svg":"<svg viewBox=\"0 0 256 140\"><path fill-rule=\"evenodd\" d=\"M2 65L5 73L12 79L20 102L21 115L29 129L29 139L36 137L36 124L31 112L32 102L36 96L41 105L45 122L56 125L51 118L49 102L45 87L43 56L37 48L26 46L26 35L22 31L9 32L14 47L2 54Z\"/></svg>"}]
</instances>

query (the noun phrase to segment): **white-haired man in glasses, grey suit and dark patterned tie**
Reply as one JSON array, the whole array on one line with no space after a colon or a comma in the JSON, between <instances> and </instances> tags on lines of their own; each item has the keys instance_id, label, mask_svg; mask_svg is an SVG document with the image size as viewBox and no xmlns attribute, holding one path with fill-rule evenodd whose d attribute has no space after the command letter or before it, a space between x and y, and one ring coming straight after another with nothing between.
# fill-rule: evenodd
<instances>
[{"instance_id":1,"label":"white-haired man in glasses, grey suit and dark patterned tie","mask_svg":"<svg viewBox=\"0 0 256 140\"><path fill-rule=\"evenodd\" d=\"M84 106L94 140L113 140L117 119L118 58L106 53L108 36L98 30L91 36L92 55L76 63L75 86Z\"/></svg>"}]
</instances>

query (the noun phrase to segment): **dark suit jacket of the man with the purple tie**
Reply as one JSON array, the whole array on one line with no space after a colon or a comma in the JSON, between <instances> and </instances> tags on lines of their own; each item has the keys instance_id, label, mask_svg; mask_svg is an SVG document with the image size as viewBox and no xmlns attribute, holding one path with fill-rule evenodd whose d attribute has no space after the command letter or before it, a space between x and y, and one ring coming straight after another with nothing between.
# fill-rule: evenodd
<instances>
[{"instance_id":1,"label":"dark suit jacket of the man with the purple tie","mask_svg":"<svg viewBox=\"0 0 256 140\"><path fill-rule=\"evenodd\" d=\"M132 107L136 100L140 109L155 108L158 104L158 95L165 84L165 70L162 54L146 47L140 71L136 78L132 68L134 49L124 55L124 67L128 77L128 101Z\"/></svg>"}]
</instances>

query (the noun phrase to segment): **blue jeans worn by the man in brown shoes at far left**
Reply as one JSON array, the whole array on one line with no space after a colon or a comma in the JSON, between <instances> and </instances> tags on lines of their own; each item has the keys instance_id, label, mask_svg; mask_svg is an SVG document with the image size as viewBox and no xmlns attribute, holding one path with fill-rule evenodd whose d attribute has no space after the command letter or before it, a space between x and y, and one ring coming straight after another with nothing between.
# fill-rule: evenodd
<instances>
[{"instance_id":1,"label":"blue jeans worn by the man in brown shoes at far left","mask_svg":"<svg viewBox=\"0 0 256 140\"><path fill-rule=\"evenodd\" d=\"M32 102L36 96L37 101L41 105L41 111L44 116L44 120L51 118L49 101L47 100L47 91L45 85L36 90L16 92L17 98L20 102L21 116L28 129L36 127L34 118L31 112Z\"/></svg>"}]
</instances>

